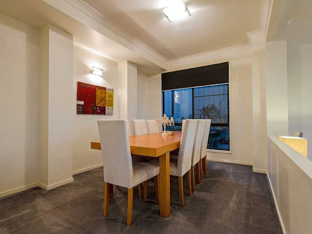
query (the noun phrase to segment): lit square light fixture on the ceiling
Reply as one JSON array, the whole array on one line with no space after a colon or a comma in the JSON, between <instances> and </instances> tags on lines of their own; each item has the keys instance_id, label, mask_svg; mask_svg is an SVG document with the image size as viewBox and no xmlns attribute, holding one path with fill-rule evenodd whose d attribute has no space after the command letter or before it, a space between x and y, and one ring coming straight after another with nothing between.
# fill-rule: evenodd
<instances>
[{"instance_id":1,"label":"lit square light fixture on the ceiling","mask_svg":"<svg viewBox=\"0 0 312 234\"><path fill-rule=\"evenodd\" d=\"M167 18L167 20L169 20L169 22L183 20L191 16L191 13L184 1L164 7L160 9L160 11Z\"/></svg>"}]
</instances>

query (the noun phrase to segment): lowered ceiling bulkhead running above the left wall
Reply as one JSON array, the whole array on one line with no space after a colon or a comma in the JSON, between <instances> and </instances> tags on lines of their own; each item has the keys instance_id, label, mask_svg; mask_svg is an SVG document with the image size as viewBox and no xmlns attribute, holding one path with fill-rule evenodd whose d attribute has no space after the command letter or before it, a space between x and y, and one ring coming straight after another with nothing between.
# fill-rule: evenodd
<instances>
[{"instance_id":1,"label":"lowered ceiling bulkhead running above the left wall","mask_svg":"<svg viewBox=\"0 0 312 234\"><path fill-rule=\"evenodd\" d=\"M150 60L137 55L42 0L0 0L0 12L36 28L52 24L74 35L76 45L116 62L132 61L137 64L139 70L146 74L163 71L163 68Z\"/></svg>"}]
</instances>

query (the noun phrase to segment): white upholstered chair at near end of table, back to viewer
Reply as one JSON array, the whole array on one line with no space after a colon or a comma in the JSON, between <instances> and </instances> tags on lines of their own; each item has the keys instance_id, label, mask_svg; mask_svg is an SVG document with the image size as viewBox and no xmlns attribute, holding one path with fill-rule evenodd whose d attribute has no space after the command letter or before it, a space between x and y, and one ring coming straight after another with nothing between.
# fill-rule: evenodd
<instances>
[{"instance_id":1,"label":"white upholstered chair at near end of table, back to viewer","mask_svg":"<svg viewBox=\"0 0 312 234\"><path fill-rule=\"evenodd\" d=\"M125 120L98 120L103 157L104 211L108 215L109 184L128 188L127 225L132 223L133 187L159 175L158 165L133 162Z\"/></svg>"}]
</instances>

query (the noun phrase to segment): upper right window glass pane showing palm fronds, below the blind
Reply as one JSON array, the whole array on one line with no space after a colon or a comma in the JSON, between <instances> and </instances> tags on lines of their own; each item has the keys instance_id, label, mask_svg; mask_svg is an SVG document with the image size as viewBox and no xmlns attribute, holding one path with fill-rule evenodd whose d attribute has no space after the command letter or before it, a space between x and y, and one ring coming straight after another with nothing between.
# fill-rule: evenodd
<instances>
[{"instance_id":1,"label":"upper right window glass pane showing palm fronds, below the blind","mask_svg":"<svg viewBox=\"0 0 312 234\"><path fill-rule=\"evenodd\" d=\"M229 123L228 84L194 88L194 117Z\"/></svg>"}]
</instances>

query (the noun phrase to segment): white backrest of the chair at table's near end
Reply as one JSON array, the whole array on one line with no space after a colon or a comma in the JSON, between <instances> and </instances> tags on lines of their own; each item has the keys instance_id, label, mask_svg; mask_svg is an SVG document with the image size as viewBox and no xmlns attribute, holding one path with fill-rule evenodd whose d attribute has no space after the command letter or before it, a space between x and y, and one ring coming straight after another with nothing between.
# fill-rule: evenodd
<instances>
[{"instance_id":1,"label":"white backrest of the chair at table's near end","mask_svg":"<svg viewBox=\"0 0 312 234\"><path fill-rule=\"evenodd\" d=\"M125 120L98 120L104 181L133 187L133 166Z\"/></svg>"}]
</instances>

